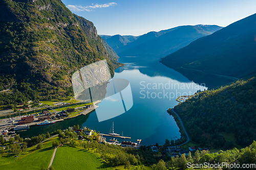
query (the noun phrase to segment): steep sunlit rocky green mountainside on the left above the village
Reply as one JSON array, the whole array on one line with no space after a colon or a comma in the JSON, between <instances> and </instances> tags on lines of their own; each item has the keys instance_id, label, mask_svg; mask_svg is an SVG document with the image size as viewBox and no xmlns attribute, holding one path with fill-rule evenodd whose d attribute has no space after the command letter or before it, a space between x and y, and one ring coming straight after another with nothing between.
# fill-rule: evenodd
<instances>
[{"instance_id":1,"label":"steep sunlit rocky green mountainside on the left above the village","mask_svg":"<svg viewBox=\"0 0 256 170\"><path fill-rule=\"evenodd\" d=\"M1 105L72 95L77 69L104 59L111 74L119 66L93 23L61 1L4 0L0 6L0 90L19 90L1 93Z\"/></svg>"}]
</instances>

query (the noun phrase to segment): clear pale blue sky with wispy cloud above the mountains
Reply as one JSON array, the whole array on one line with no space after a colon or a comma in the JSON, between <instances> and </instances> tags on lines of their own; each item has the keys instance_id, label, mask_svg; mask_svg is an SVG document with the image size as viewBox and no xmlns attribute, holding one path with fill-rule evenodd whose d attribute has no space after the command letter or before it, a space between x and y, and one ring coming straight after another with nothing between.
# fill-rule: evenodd
<instances>
[{"instance_id":1,"label":"clear pale blue sky with wispy cloud above the mountains","mask_svg":"<svg viewBox=\"0 0 256 170\"><path fill-rule=\"evenodd\" d=\"M255 0L62 0L99 35L142 35L184 25L218 25L256 13Z\"/></svg>"}]
</instances>

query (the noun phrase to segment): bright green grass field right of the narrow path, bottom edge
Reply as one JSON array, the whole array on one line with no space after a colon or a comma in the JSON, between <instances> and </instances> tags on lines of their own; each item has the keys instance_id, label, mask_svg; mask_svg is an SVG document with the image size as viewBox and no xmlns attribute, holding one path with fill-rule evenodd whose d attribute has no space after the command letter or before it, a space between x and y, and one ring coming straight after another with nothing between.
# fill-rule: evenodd
<instances>
[{"instance_id":1,"label":"bright green grass field right of the narrow path, bottom edge","mask_svg":"<svg viewBox=\"0 0 256 170\"><path fill-rule=\"evenodd\" d=\"M56 170L113 169L104 164L96 154L69 145L63 145L57 149L52 166Z\"/></svg>"}]
</instances>

